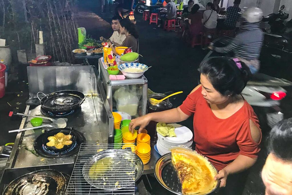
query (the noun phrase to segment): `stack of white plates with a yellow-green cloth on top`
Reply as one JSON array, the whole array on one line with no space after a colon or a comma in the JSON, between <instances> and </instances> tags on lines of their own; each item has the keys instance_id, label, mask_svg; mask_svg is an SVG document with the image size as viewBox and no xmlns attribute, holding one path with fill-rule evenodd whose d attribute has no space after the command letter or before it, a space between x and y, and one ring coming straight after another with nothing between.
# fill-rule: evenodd
<instances>
[{"instance_id":1,"label":"stack of white plates with a yellow-green cloth on top","mask_svg":"<svg viewBox=\"0 0 292 195\"><path fill-rule=\"evenodd\" d=\"M176 146L183 146L187 148L192 148L193 143L193 133L192 131L182 125L171 123L170 125L175 127L176 137L163 137L157 133L157 150L159 154L164 155L170 152L169 148Z\"/></svg>"}]
</instances>

